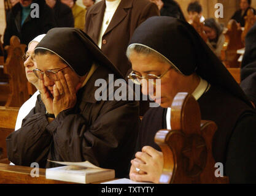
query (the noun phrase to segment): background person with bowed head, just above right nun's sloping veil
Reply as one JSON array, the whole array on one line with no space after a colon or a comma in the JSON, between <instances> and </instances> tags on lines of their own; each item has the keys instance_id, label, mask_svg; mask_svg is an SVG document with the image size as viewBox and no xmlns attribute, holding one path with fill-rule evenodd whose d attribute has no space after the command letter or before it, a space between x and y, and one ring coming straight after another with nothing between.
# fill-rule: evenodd
<instances>
[{"instance_id":1,"label":"background person with bowed head, just above right nun's sloping veil","mask_svg":"<svg viewBox=\"0 0 256 196\"><path fill-rule=\"evenodd\" d=\"M223 44L225 42L225 36L222 33L223 27L217 23L214 18L208 18L204 21L204 32L208 38L206 43L220 59Z\"/></svg>"}]
</instances>

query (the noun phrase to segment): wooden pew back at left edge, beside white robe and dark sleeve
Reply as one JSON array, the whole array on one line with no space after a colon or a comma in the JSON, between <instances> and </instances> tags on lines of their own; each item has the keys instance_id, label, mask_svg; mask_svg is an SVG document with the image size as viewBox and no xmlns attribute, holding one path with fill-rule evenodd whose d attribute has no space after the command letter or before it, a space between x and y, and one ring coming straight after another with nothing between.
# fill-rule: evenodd
<instances>
[{"instance_id":1,"label":"wooden pew back at left edge, beside white robe and dark sleeve","mask_svg":"<svg viewBox=\"0 0 256 196\"><path fill-rule=\"evenodd\" d=\"M9 163L7 160L6 137L15 129L18 116L17 107L0 106L0 162Z\"/></svg>"}]
</instances>

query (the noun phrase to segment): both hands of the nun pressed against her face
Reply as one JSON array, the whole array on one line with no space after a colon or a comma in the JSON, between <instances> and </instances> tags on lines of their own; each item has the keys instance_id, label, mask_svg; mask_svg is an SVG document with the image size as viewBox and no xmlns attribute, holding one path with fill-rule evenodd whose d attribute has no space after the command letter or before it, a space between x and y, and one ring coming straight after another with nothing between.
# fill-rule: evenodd
<instances>
[{"instance_id":1,"label":"both hands of the nun pressed against her face","mask_svg":"<svg viewBox=\"0 0 256 196\"><path fill-rule=\"evenodd\" d=\"M41 99L48 113L53 113L55 118L61 111L73 108L76 105L76 92L81 86L79 83L74 88L69 74L63 75L62 72L58 72L58 78L59 80L55 81L53 85L53 94L44 85L44 80L39 80Z\"/></svg>"}]
</instances>

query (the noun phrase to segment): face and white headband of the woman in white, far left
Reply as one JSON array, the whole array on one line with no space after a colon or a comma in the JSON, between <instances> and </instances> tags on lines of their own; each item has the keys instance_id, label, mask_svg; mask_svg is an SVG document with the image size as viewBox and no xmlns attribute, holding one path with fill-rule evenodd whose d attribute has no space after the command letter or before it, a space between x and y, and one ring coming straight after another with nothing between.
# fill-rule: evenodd
<instances>
[{"instance_id":1,"label":"face and white headband of the woman in white, far left","mask_svg":"<svg viewBox=\"0 0 256 196\"><path fill-rule=\"evenodd\" d=\"M26 78L30 83L35 85L38 82L38 78L34 75L33 69L36 69L36 61L34 59L34 48L38 42L31 42L28 47L28 51L26 51L26 61L24 62Z\"/></svg>"}]
</instances>

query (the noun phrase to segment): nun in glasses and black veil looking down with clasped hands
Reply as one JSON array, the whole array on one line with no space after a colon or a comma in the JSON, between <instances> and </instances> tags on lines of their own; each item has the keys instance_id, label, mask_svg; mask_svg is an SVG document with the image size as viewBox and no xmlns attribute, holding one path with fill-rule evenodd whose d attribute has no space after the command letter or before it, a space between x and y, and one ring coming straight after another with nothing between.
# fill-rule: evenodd
<instances>
[{"instance_id":1,"label":"nun in glasses and black veil looking down with clasped hands","mask_svg":"<svg viewBox=\"0 0 256 196\"><path fill-rule=\"evenodd\" d=\"M127 56L134 82L143 86L142 78L161 78L161 97L155 98L160 107L150 108L142 119L131 179L158 183L163 155L154 142L155 134L171 129L168 107L177 92L189 92L200 105L201 118L218 126L212 153L223 164L224 175L230 183L256 183L255 111L192 26L171 17L149 18L134 31ZM153 92L148 94L153 97Z\"/></svg>"}]
</instances>

